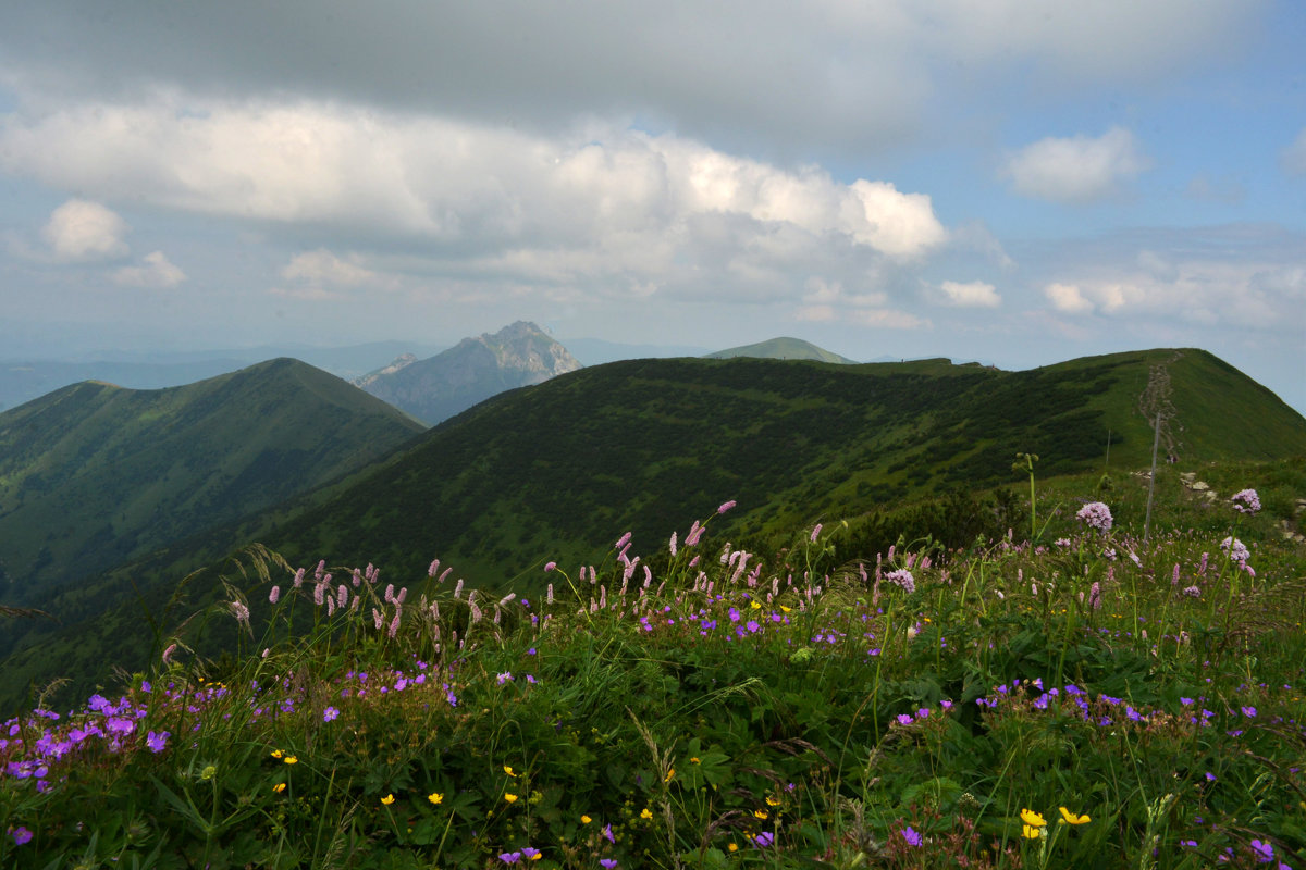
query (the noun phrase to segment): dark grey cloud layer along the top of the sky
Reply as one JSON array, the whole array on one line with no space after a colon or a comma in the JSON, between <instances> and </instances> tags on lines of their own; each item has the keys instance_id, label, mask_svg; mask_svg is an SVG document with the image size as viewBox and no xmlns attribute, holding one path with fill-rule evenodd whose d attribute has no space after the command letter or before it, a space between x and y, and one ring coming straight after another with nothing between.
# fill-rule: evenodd
<instances>
[{"instance_id":1,"label":"dark grey cloud layer along the top of the sky","mask_svg":"<svg viewBox=\"0 0 1306 870\"><path fill-rule=\"evenodd\" d=\"M163 83L236 99L325 94L558 133L585 115L793 154L900 145L959 67L977 87L1148 82L1237 52L1268 0L91 0L9 4L12 80L115 102ZM505 26L509 22L511 26Z\"/></svg>"}]
</instances>

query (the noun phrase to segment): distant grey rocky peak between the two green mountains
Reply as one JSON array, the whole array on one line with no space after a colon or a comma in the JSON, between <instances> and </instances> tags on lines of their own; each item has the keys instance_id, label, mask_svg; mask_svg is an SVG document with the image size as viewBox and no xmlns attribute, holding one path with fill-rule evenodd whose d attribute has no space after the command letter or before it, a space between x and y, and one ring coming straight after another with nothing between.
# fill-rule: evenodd
<instances>
[{"instance_id":1,"label":"distant grey rocky peak between the two green mountains","mask_svg":"<svg viewBox=\"0 0 1306 870\"><path fill-rule=\"evenodd\" d=\"M579 368L565 347L534 323L518 321L494 335L462 339L427 360L404 355L354 383L435 425L504 390L543 383Z\"/></svg>"}]
</instances>

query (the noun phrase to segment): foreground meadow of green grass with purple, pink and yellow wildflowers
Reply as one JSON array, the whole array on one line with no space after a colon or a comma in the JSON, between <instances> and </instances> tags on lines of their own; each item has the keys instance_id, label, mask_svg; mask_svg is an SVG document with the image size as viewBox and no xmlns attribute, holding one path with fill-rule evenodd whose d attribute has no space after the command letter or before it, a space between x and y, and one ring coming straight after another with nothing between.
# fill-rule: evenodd
<instances>
[{"instance_id":1,"label":"foreground meadow of green grass with purple, pink and yellow wildflowers","mask_svg":"<svg viewBox=\"0 0 1306 870\"><path fill-rule=\"evenodd\" d=\"M1306 866L1306 554L1182 493L1143 547L1127 485L1109 531L1060 487L1037 545L696 524L552 600L231 588L242 655L5 725L0 862Z\"/></svg>"}]
</instances>

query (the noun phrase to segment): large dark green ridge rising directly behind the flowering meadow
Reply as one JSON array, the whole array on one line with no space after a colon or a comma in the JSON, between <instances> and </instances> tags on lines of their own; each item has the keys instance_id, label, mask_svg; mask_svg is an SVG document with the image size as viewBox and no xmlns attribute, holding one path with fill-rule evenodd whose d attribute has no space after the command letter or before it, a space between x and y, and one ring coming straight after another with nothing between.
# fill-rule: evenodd
<instances>
[{"instance_id":1,"label":"large dark green ridge rising directly behind the flowering meadow","mask_svg":"<svg viewBox=\"0 0 1306 870\"><path fill-rule=\"evenodd\" d=\"M1156 364L1169 367L1185 463L1306 455L1306 420L1203 351L1028 372L947 360L611 363L498 395L347 480L71 592L60 601L68 625L34 623L5 664L0 698L93 672L97 660L140 667L140 644L123 638L140 620L125 578L158 613L179 578L251 541L294 565L375 562L396 583L424 577L439 557L481 588L537 592L556 577L545 561L597 562L624 531L657 552L654 541L684 535L726 500L738 507L714 520L717 533L757 540L1013 483L1017 451L1041 457L1042 479L1102 468L1109 442L1114 471L1140 468L1152 430L1138 399ZM1237 424L1245 419L1254 433ZM196 579L189 610L221 588L215 571ZM102 618L114 595L120 609Z\"/></svg>"}]
</instances>

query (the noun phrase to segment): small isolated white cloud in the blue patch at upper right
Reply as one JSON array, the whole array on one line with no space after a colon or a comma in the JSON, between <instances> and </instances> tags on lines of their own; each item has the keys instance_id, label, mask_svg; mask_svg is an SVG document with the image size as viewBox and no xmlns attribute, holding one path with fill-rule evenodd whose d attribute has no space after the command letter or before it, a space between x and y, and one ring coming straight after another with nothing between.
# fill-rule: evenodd
<instances>
[{"instance_id":1,"label":"small isolated white cloud in the blue patch at upper right","mask_svg":"<svg viewBox=\"0 0 1306 870\"><path fill-rule=\"evenodd\" d=\"M1003 175L1016 193L1053 202L1092 202L1111 196L1151 166L1134 134L1113 127L1097 138L1045 138L1008 158Z\"/></svg>"}]
</instances>

